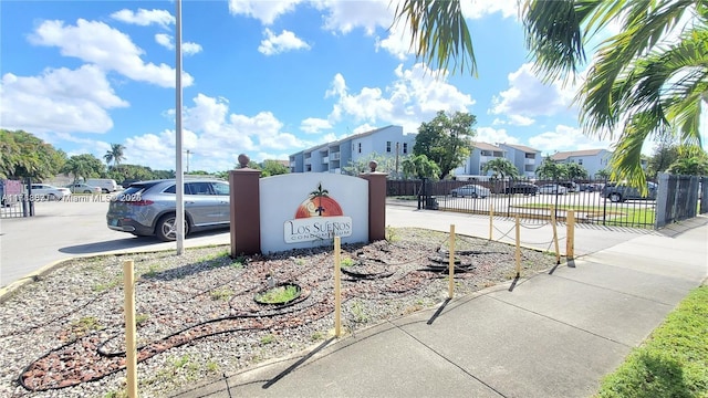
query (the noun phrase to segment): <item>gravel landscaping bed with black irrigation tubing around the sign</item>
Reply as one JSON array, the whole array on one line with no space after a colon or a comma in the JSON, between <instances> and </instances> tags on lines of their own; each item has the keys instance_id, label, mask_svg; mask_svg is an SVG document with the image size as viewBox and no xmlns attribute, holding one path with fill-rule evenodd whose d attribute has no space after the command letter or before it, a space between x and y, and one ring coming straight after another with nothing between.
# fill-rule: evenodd
<instances>
[{"instance_id":1,"label":"gravel landscaping bed with black irrigation tubing around the sign","mask_svg":"<svg viewBox=\"0 0 708 398\"><path fill-rule=\"evenodd\" d=\"M344 244L343 324L355 332L447 297L448 233L389 229L388 240ZM516 276L514 248L457 237L456 295ZM305 349L333 328L332 245L231 259L228 247L66 262L0 305L0 396L119 397L125 380L123 262L135 262L140 397L169 396L266 359ZM438 260L436 260L438 259ZM458 265L459 265L458 264ZM431 266L433 265L433 266ZM522 275L555 256L522 251ZM296 284L289 305L254 296Z\"/></svg>"}]
</instances>

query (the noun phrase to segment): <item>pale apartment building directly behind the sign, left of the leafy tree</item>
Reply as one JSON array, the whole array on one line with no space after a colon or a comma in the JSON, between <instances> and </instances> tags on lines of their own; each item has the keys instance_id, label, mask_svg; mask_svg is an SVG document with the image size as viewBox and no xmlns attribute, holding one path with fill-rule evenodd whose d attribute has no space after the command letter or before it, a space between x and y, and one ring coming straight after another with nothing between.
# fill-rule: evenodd
<instances>
[{"instance_id":1,"label":"pale apartment building directly behind the sign, left of the leafy tree","mask_svg":"<svg viewBox=\"0 0 708 398\"><path fill-rule=\"evenodd\" d=\"M403 157L413 153L415 137L393 125L355 134L290 155L290 171L342 174L344 167L372 154Z\"/></svg>"}]
</instances>

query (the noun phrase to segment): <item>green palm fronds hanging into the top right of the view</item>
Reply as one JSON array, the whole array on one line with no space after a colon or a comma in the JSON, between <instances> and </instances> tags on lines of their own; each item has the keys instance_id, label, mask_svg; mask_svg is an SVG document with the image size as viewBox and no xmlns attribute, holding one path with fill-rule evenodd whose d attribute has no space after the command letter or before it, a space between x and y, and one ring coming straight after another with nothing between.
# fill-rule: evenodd
<instances>
[{"instance_id":1,"label":"green palm fronds hanging into the top right of the view","mask_svg":"<svg viewBox=\"0 0 708 398\"><path fill-rule=\"evenodd\" d=\"M527 46L545 80L575 77L585 45L611 22L621 33L605 40L576 101L585 134L615 138L614 179L646 189L641 150L666 135L700 147L701 106L708 105L708 7L705 0L525 0ZM459 1L404 0L395 23L413 31L418 57L447 67L470 59L471 39ZM665 40L676 34L677 40ZM452 70L454 72L454 70ZM704 127L705 128L705 127Z\"/></svg>"}]
</instances>

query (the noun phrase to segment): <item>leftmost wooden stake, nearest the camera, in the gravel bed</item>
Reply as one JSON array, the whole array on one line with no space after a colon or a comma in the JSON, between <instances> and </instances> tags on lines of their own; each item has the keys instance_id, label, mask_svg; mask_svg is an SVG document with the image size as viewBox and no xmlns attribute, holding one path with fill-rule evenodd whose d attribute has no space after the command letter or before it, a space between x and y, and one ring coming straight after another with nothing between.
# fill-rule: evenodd
<instances>
[{"instance_id":1,"label":"leftmost wooden stake, nearest the camera, in the gravel bed","mask_svg":"<svg viewBox=\"0 0 708 398\"><path fill-rule=\"evenodd\" d=\"M123 262L123 291L125 295L125 371L126 392L137 397L137 348L135 341L135 273L133 260Z\"/></svg>"}]
</instances>

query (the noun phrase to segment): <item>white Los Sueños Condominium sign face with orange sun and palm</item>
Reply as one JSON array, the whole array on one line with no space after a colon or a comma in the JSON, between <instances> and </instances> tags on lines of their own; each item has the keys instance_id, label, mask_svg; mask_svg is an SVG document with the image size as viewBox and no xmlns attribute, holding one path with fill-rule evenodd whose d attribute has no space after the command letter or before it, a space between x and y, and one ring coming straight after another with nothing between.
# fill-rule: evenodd
<instances>
[{"instance_id":1,"label":"white Los Sue\u00f1os Condominium sign face with orange sun and palm","mask_svg":"<svg viewBox=\"0 0 708 398\"><path fill-rule=\"evenodd\" d=\"M238 187L237 187L238 189ZM260 180L263 253L368 241L368 181L298 172Z\"/></svg>"}]
</instances>

